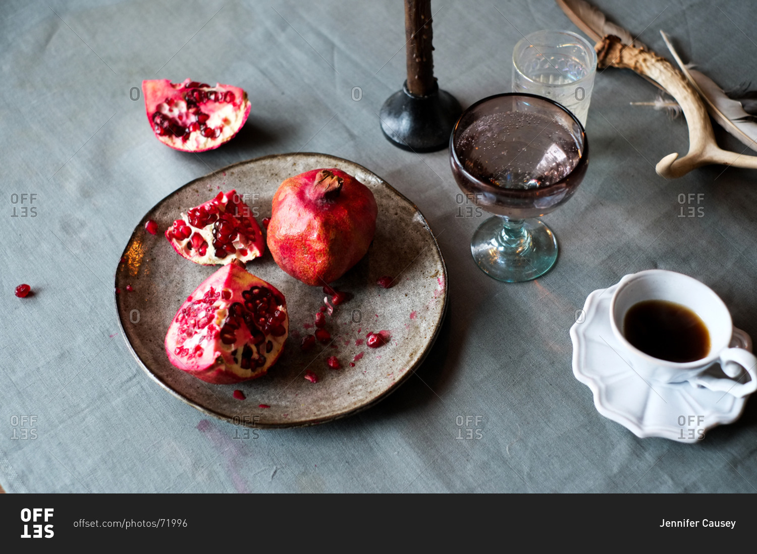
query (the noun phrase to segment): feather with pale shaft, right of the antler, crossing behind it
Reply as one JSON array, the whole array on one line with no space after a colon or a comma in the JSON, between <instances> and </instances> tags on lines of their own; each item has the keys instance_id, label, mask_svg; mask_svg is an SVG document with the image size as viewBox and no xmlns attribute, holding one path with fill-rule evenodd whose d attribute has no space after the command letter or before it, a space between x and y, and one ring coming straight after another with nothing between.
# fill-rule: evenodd
<instances>
[{"instance_id":1,"label":"feather with pale shaft, right of the antler, crossing behind it","mask_svg":"<svg viewBox=\"0 0 757 554\"><path fill-rule=\"evenodd\" d=\"M681 72L704 99L710 115L720 123L723 129L730 132L747 147L757 151L757 145L755 145L755 142L757 142L757 123L750 121L751 117L746 113L740 102L728 98L723 89L708 76L697 70L690 70L673 48L670 37L662 30L660 34L678 67L681 68Z\"/></svg>"}]
</instances>

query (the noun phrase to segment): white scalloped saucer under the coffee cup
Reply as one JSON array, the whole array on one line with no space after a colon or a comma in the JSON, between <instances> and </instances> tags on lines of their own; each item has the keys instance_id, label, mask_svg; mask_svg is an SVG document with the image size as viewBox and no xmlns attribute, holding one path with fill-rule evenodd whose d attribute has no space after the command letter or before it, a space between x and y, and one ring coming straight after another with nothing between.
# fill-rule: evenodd
<instances>
[{"instance_id":1,"label":"white scalloped saucer under the coffee cup","mask_svg":"<svg viewBox=\"0 0 757 554\"><path fill-rule=\"evenodd\" d=\"M685 443L696 443L716 425L739 419L746 398L688 383L647 382L625 363L609 322L609 303L616 287L589 294L584 319L570 329L573 375L591 389L597 411L637 437ZM751 352L752 339L734 328L731 346Z\"/></svg>"}]
</instances>

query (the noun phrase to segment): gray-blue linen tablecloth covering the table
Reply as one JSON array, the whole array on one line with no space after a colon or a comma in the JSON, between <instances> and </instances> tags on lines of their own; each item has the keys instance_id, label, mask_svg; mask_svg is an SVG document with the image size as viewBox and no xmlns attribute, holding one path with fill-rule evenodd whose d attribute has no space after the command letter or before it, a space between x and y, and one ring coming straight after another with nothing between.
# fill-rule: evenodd
<instances>
[{"instance_id":1,"label":"gray-blue linen tablecloth covering the table","mask_svg":"<svg viewBox=\"0 0 757 554\"><path fill-rule=\"evenodd\" d=\"M721 86L757 83L754 4L596 5L659 54L667 53L659 30L667 31ZM435 73L463 106L509 91L522 35L576 30L552 0L441 0L432 8ZM705 167L678 180L656 176L662 156L687 151L683 118L629 105L653 100L656 89L630 71L602 71L587 122L586 178L546 219L561 246L557 265L535 282L495 282L471 259L469 241L483 219L456 217L447 152L401 151L379 129L378 109L405 78L404 42L399 0L3 2L5 490L757 490L753 402L698 444L637 438L594 409L572 375L569 338L590 291L650 268L701 279L731 307L734 324L757 337L757 173ZM160 145L143 101L129 92L142 79L166 77L241 86L253 104L247 127L199 156ZM418 205L447 262L450 310L417 375L378 406L233 440L237 428L201 423L207 416L158 387L132 358L114 310L114 269L136 223L174 189L209 168L294 151L354 160ZM14 217L24 193L36 195L33 204L23 197L36 216ZM702 195L702 217L678 217L688 206L679 195L689 193ZM33 297L14 297L22 282ZM14 439L23 428L27 438ZM461 428L481 437L457 440Z\"/></svg>"}]
</instances>

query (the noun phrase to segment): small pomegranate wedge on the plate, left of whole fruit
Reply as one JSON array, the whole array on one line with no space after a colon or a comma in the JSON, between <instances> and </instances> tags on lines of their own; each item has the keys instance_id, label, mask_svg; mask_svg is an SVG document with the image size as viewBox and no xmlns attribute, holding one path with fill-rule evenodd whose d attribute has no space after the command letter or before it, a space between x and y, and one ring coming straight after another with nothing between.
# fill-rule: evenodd
<instances>
[{"instance_id":1,"label":"small pomegranate wedge on the plate, left of whole fruit","mask_svg":"<svg viewBox=\"0 0 757 554\"><path fill-rule=\"evenodd\" d=\"M213 200L182 213L182 219L166 229L166 238L176 252L204 266L248 262L266 248L252 210L236 191L221 191Z\"/></svg>"}]
</instances>

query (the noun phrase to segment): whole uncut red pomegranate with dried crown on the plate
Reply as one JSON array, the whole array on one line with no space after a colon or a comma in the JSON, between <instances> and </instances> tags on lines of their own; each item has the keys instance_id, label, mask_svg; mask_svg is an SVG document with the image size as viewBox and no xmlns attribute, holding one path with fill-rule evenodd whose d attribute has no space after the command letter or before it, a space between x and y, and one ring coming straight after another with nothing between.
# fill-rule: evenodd
<instances>
[{"instance_id":1,"label":"whole uncut red pomegranate with dried crown on the plate","mask_svg":"<svg viewBox=\"0 0 757 554\"><path fill-rule=\"evenodd\" d=\"M268 247L289 275L325 285L366 255L377 213L373 193L344 171L301 173L273 195Z\"/></svg>"}]
</instances>

